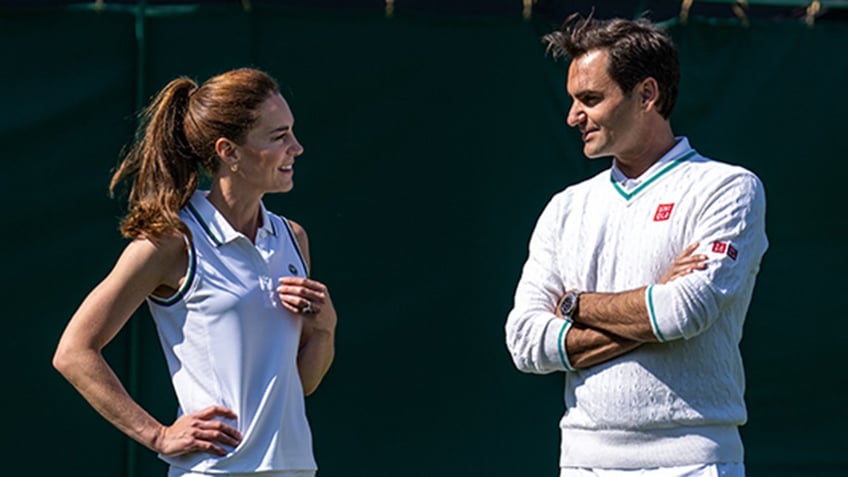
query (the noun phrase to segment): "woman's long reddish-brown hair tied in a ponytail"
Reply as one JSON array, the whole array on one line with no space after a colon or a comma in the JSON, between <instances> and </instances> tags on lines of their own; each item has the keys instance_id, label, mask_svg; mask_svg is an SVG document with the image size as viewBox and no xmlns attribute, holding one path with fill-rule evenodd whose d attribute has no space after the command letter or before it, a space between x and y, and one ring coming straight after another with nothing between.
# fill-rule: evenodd
<instances>
[{"instance_id":1,"label":"woman's long reddish-brown hair tied in a ponytail","mask_svg":"<svg viewBox=\"0 0 848 477\"><path fill-rule=\"evenodd\" d=\"M136 140L109 184L114 194L118 183L133 178L120 227L124 237L189 234L178 213L197 190L201 169L217 172L215 142L223 137L243 144L259 106L277 93L274 79L252 68L228 71L199 87L187 77L165 85L144 110Z\"/></svg>"}]
</instances>

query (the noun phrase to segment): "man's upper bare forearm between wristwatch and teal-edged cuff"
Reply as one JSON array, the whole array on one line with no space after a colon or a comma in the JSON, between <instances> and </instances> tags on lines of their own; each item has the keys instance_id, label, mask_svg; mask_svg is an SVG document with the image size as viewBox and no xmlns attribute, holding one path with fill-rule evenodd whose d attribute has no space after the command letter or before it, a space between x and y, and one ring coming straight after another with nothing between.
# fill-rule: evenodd
<instances>
[{"instance_id":1,"label":"man's upper bare forearm between wristwatch and teal-edged cuff","mask_svg":"<svg viewBox=\"0 0 848 477\"><path fill-rule=\"evenodd\" d=\"M607 331L640 343L657 342L645 303L645 288L620 293L582 293L576 313L577 324Z\"/></svg>"}]
</instances>

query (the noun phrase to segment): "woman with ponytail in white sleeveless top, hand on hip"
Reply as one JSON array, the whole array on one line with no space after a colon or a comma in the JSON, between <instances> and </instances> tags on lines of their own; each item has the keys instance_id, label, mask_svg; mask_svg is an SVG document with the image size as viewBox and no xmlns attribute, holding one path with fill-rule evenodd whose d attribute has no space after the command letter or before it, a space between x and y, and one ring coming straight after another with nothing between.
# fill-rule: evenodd
<instances>
[{"instance_id":1,"label":"woman with ponytail in white sleeveless top, hand on hip","mask_svg":"<svg viewBox=\"0 0 848 477\"><path fill-rule=\"evenodd\" d=\"M292 189L303 147L276 82L238 69L178 78L145 111L112 178L132 178L132 239L68 323L54 366L169 476L313 475L304 411L330 367L336 311L308 278L298 224L262 197ZM198 191L200 168L211 177ZM101 350L146 301L180 405L170 425L126 392Z\"/></svg>"}]
</instances>

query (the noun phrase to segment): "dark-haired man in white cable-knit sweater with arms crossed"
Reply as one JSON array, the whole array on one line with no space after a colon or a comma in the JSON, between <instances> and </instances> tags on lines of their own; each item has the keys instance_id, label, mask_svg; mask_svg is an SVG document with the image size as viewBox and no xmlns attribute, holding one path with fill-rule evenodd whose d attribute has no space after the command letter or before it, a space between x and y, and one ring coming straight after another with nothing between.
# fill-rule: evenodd
<instances>
[{"instance_id":1,"label":"dark-haired man in white cable-knit sweater with arms crossed","mask_svg":"<svg viewBox=\"0 0 848 477\"><path fill-rule=\"evenodd\" d=\"M739 352L765 235L759 179L669 115L679 66L646 20L571 18L568 125L612 167L538 219L506 323L519 370L564 371L561 476L743 476Z\"/></svg>"}]
</instances>

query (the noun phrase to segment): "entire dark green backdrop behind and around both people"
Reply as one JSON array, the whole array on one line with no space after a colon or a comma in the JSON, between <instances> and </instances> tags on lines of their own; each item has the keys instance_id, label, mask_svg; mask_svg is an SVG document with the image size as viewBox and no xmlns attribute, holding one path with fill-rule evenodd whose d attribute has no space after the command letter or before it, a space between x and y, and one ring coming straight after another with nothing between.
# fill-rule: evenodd
<instances>
[{"instance_id":1,"label":"entire dark green backdrop behind and around both people","mask_svg":"<svg viewBox=\"0 0 848 477\"><path fill-rule=\"evenodd\" d=\"M503 324L538 213L608 162L584 159L564 125L566 64L544 54L548 26L158 12L140 42L125 12L0 14L3 473L164 475L50 360L124 245L107 183L138 101L177 75L249 65L280 80L306 148L295 190L266 203L307 228L314 276L339 311L337 360L307 401L319 475L557 475L562 377L515 371ZM749 475L846 475L848 26L693 19L671 32L675 131L752 169L768 193L771 248L742 344ZM106 354L170 421L146 310Z\"/></svg>"}]
</instances>

